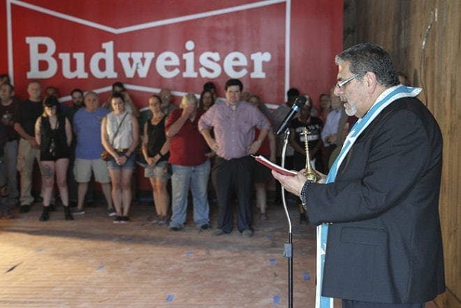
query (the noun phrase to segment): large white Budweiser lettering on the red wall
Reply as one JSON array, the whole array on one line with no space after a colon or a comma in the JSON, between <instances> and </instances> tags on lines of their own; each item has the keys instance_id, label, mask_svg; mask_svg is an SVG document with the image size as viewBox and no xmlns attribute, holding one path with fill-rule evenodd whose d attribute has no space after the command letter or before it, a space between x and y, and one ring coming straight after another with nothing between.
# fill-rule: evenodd
<instances>
[{"instance_id":1,"label":"large white Budweiser lettering on the red wall","mask_svg":"<svg viewBox=\"0 0 461 308\"><path fill-rule=\"evenodd\" d=\"M52 78L56 75L59 63L55 58L56 43L50 37L28 36L26 43L29 44L30 69L27 78ZM114 42L109 41L101 44L102 51L95 52L89 59L89 72L95 78L118 78L115 71ZM218 78L222 71L229 78L242 78L247 75L249 68L248 57L238 51L230 52L224 57L221 66L221 54L219 52L205 51L198 56L200 68L198 72L195 68L195 54L193 49L195 43L186 41L184 44L186 53L182 54L185 70L182 72L184 78L197 78L200 74L202 78ZM41 52L39 51L41 50ZM85 52L59 52L57 57L61 60L61 73L64 78L88 78L85 62ZM155 52L117 52L117 58L122 64L123 73L127 78L133 78L137 73L140 78L146 78ZM249 58L253 62L253 71L250 78L265 78L263 63L271 59L270 52L254 52ZM73 60L71 60L71 58ZM46 68L40 69L40 63L44 62ZM163 78L174 78L181 73L180 57L172 51L161 52L156 57L156 72ZM75 69L72 71L72 67Z\"/></svg>"}]
</instances>

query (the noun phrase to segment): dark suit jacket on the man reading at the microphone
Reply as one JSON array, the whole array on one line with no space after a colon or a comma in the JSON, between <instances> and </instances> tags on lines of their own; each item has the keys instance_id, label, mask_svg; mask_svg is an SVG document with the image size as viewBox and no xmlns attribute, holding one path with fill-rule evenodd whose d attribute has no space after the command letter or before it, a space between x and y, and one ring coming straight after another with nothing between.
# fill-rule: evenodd
<instances>
[{"instance_id":1,"label":"dark suit jacket on the man reading at the microphone","mask_svg":"<svg viewBox=\"0 0 461 308\"><path fill-rule=\"evenodd\" d=\"M359 136L334 183L305 190L312 223L332 223L323 296L403 303L444 292L441 158L434 117L400 98Z\"/></svg>"}]
</instances>

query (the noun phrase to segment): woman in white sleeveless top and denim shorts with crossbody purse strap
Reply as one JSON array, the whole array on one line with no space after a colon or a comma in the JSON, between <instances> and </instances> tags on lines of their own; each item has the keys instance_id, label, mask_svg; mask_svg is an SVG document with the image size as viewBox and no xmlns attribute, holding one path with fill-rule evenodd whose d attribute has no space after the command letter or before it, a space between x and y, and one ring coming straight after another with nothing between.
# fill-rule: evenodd
<instances>
[{"instance_id":1,"label":"woman in white sleeveless top and denim shorts with crossbody purse strap","mask_svg":"<svg viewBox=\"0 0 461 308\"><path fill-rule=\"evenodd\" d=\"M124 96L115 92L110 96L114 111L103 118L101 123L101 142L112 156L108 161L112 182L112 202L114 203L114 223L129 222L131 205L131 176L135 168L134 151L138 146L139 126L135 116L125 110Z\"/></svg>"}]
</instances>

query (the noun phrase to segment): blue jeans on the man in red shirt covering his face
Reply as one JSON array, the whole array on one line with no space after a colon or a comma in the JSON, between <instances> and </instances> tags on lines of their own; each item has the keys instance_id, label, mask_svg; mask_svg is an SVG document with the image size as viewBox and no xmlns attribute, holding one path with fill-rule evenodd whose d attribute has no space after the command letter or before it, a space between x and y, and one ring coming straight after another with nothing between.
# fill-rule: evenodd
<instances>
[{"instance_id":1,"label":"blue jeans on the man in red shirt covering his face","mask_svg":"<svg viewBox=\"0 0 461 308\"><path fill-rule=\"evenodd\" d=\"M208 204L208 177L210 161L199 166L172 165L171 210L173 212L170 227L182 228L186 221L187 195L189 186L193 198L193 221L198 228L210 223L210 205Z\"/></svg>"}]
</instances>

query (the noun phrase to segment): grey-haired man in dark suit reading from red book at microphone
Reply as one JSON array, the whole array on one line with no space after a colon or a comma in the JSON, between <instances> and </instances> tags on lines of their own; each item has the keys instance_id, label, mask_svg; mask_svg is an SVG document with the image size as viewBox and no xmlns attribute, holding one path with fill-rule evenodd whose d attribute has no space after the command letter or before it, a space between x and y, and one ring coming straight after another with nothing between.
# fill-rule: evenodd
<instances>
[{"instance_id":1,"label":"grey-haired man in dark suit reading from red book at microphone","mask_svg":"<svg viewBox=\"0 0 461 308\"><path fill-rule=\"evenodd\" d=\"M336 64L335 94L359 120L332 170L318 183L302 170L272 174L312 223L328 226L323 297L344 308L422 308L445 291L439 126L381 47L353 46Z\"/></svg>"}]
</instances>

